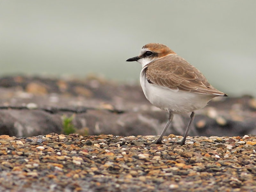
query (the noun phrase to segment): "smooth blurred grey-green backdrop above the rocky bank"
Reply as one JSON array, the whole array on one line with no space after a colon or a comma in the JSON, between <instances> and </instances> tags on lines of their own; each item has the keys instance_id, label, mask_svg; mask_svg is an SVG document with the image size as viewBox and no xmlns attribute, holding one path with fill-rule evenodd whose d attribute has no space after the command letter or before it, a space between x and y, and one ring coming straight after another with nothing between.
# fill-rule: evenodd
<instances>
[{"instance_id":1,"label":"smooth blurred grey-green backdrop above the rocky bank","mask_svg":"<svg viewBox=\"0 0 256 192\"><path fill-rule=\"evenodd\" d=\"M151 42L221 91L256 96L255 0L0 0L0 76L94 73L139 82L125 62Z\"/></svg>"}]
</instances>

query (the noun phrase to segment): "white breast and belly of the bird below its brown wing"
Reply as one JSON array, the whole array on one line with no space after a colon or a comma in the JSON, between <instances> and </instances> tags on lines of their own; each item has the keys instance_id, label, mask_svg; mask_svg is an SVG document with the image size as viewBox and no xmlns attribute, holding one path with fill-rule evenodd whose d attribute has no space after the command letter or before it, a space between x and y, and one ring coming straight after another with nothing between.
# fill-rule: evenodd
<instances>
[{"instance_id":1,"label":"white breast and belly of the bird below its brown wing","mask_svg":"<svg viewBox=\"0 0 256 192\"><path fill-rule=\"evenodd\" d=\"M173 91L148 83L143 70L140 73L140 84L149 102L161 109L171 109L173 113L188 113L203 108L216 95L193 92Z\"/></svg>"}]
</instances>

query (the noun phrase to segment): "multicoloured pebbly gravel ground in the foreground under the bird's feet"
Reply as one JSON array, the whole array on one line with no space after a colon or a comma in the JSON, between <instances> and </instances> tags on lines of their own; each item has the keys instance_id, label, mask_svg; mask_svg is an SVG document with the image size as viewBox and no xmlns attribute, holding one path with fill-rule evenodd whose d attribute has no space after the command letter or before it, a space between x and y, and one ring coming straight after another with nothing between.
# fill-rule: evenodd
<instances>
[{"instance_id":1,"label":"multicoloured pebbly gravel ground in the foreground under the bird's feet","mask_svg":"<svg viewBox=\"0 0 256 192\"><path fill-rule=\"evenodd\" d=\"M256 191L256 137L0 136L0 191Z\"/></svg>"}]
</instances>

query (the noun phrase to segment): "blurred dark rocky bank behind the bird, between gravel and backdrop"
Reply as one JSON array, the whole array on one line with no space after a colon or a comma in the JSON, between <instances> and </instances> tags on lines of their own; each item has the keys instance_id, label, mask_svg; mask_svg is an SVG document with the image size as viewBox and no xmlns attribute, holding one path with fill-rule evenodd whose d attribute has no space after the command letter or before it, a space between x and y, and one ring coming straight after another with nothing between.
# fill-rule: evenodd
<instances>
[{"instance_id":1,"label":"blurred dark rocky bank behind the bird, between gravel and backdrop","mask_svg":"<svg viewBox=\"0 0 256 192\"><path fill-rule=\"evenodd\" d=\"M190 114L174 115L166 135L182 135ZM118 84L95 76L61 79L0 77L0 135L31 137L159 135L168 114L152 106L139 84ZM218 97L196 111L189 136L256 134L256 99Z\"/></svg>"}]
</instances>

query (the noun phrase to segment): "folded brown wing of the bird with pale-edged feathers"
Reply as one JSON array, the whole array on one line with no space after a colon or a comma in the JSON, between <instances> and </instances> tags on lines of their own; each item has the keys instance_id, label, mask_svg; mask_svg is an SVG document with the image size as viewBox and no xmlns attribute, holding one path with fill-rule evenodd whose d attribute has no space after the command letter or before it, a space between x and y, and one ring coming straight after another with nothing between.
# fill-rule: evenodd
<instances>
[{"instance_id":1,"label":"folded brown wing of the bird with pale-edged feathers","mask_svg":"<svg viewBox=\"0 0 256 192\"><path fill-rule=\"evenodd\" d=\"M178 55L168 55L147 65L148 82L173 90L226 96L206 80L204 75Z\"/></svg>"}]
</instances>

